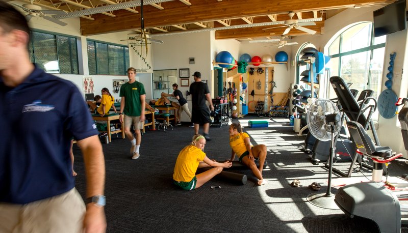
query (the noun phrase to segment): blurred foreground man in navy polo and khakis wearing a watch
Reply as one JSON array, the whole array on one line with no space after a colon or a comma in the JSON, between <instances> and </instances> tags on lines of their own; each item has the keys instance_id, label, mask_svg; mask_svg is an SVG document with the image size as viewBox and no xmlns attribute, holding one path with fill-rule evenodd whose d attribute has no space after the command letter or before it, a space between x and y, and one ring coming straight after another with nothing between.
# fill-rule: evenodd
<instances>
[{"instance_id":1,"label":"blurred foreground man in navy polo and khakis wearing a watch","mask_svg":"<svg viewBox=\"0 0 408 233\"><path fill-rule=\"evenodd\" d=\"M105 162L82 94L30 63L30 28L0 1L0 232L104 232ZM70 140L84 155L86 206Z\"/></svg>"}]
</instances>

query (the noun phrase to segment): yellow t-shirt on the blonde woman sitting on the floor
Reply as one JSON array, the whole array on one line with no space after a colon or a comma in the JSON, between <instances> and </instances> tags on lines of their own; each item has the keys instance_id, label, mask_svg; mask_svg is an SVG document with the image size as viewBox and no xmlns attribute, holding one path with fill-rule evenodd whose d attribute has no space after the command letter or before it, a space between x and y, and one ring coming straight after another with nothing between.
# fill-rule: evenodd
<instances>
[{"instance_id":1,"label":"yellow t-shirt on the blonde woman sitting on the floor","mask_svg":"<svg viewBox=\"0 0 408 233\"><path fill-rule=\"evenodd\" d=\"M206 153L202 152L195 145L187 145L175 161L173 180L182 182L193 180L198 164L205 157Z\"/></svg>"}]
</instances>

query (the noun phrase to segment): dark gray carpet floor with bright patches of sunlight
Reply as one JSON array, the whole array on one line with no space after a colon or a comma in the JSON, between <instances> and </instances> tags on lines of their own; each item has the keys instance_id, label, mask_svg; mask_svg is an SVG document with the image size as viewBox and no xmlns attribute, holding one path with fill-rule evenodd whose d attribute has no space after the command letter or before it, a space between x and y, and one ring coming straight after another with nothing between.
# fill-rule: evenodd
<instances>
[{"instance_id":1,"label":"dark gray carpet floor with bright patches of sunlight","mask_svg":"<svg viewBox=\"0 0 408 233\"><path fill-rule=\"evenodd\" d=\"M241 122L253 144L265 144L268 168L263 171L266 185L257 186L249 170L231 170L248 177L246 185L213 179L202 187L183 191L172 184L178 153L190 143L193 129L146 131L142 136L140 158L132 160L130 142L112 137L103 144L106 159L105 208L108 232L376 232L375 224L364 218L349 218L341 210L316 207L306 200L312 193L325 193L328 170L315 165L299 149L305 136L298 136L288 119L271 119L268 128L248 128L256 116L234 119ZM228 127L211 127L211 141L205 152L209 158L231 156ZM120 137L120 136L119 136ZM74 145L77 189L85 196L85 173L79 148ZM336 166L348 166L336 164ZM392 176L408 173L405 163L390 166ZM369 170L363 172L371 176ZM354 171L352 177L362 177ZM333 180L340 179L333 174ZM291 187L294 179L301 187ZM362 178L363 179L363 178ZM320 191L308 186L321 185ZM221 189L211 189L221 186ZM336 193L332 187L331 192ZM404 229L405 230L405 229Z\"/></svg>"}]
</instances>

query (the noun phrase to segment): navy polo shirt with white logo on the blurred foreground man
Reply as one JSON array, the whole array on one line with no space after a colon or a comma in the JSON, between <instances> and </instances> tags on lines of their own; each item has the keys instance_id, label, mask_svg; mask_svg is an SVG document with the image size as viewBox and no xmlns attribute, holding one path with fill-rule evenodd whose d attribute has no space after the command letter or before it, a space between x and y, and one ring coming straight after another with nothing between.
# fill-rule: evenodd
<instances>
[{"instance_id":1,"label":"navy polo shirt with white logo on the blurred foreground man","mask_svg":"<svg viewBox=\"0 0 408 233\"><path fill-rule=\"evenodd\" d=\"M70 140L97 135L72 82L39 68L10 88L0 76L0 202L28 203L74 187Z\"/></svg>"}]
</instances>

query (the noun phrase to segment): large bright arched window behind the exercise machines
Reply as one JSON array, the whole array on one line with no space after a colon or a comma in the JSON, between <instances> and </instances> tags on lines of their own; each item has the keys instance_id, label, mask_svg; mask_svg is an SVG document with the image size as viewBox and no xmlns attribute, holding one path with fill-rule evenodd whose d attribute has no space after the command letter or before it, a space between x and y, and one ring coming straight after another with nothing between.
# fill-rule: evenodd
<instances>
[{"instance_id":1,"label":"large bright arched window behind the exercise machines","mask_svg":"<svg viewBox=\"0 0 408 233\"><path fill-rule=\"evenodd\" d=\"M340 76L352 83L350 89L374 91L378 98L381 90L382 65L384 64L386 36L374 38L373 23L362 22L347 28L328 47L331 57L331 76ZM333 88L329 88L329 98L335 98ZM377 119L378 114L373 115Z\"/></svg>"}]
</instances>

